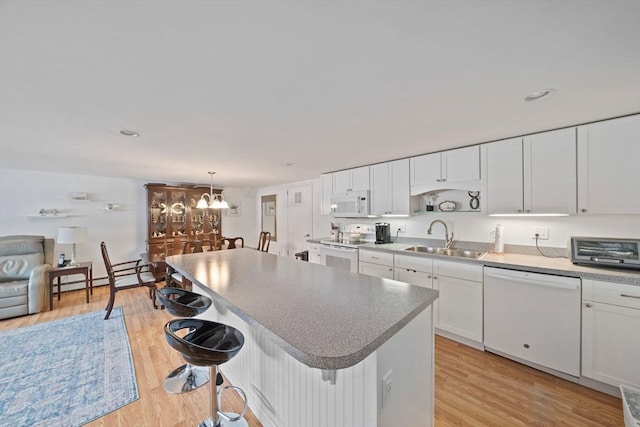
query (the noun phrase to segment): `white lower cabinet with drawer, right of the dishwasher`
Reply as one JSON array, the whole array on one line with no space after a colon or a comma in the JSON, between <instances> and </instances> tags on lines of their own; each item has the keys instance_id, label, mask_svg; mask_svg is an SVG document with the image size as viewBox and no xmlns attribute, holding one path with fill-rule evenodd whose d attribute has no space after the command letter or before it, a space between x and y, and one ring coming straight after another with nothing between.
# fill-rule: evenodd
<instances>
[{"instance_id":1,"label":"white lower cabinet with drawer, right of the dishwasher","mask_svg":"<svg viewBox=\"0 0 640 427\"><path fill-rule=\"evenodd\" d=\"M640 387L640 286L582 281L582 376Z\"/></svg>"}]
</instances>

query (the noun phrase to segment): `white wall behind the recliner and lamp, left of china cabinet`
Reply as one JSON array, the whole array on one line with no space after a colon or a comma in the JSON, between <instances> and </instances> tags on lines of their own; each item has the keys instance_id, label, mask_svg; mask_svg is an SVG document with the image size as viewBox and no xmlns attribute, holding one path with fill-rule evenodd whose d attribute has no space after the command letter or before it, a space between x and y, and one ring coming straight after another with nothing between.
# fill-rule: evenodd
<instances>
[{"instance_id":1,"label":"white wall behind the recliner and lamp, left of china cabinet","mask_svg":"<svg viewBox=\"0 0 640 427\"><path fill-rule=\"evenodd\" d=\"M100 242L114 262L136 259L145 249L146 190L130 179L0 169L0 235L35 234L56 238L58 227L87 227L88 240L77 245L79 261L92 261L94 277L106 275ZM88 202L74 202L69 193L84 192ZM116 208L105 212L104 204ZM29 218L40 209L57 209L68 217ZM71 245L56 245L71 257Z\"/></svg>"}]
</instances>

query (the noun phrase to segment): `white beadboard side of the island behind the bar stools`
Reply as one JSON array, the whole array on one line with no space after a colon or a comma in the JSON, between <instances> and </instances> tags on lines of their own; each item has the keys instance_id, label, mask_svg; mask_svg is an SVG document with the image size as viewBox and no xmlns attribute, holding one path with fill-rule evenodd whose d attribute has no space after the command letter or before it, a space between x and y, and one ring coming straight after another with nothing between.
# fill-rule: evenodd
<instances>
[{"instance_id":1,"label":"white beadboard side of the island behind the bar stools","mask_svg":"<svg viewBox=\"0 0 640 427\"><path fill-rule=\"evenodd\" d=\"M198 284L193 291L207 294ZM377 355L336 371L336 383L322 380L322 371L294 359L230 310L216 303L199 318L240 330L245 344L220 367L242 388L249 406L265 427L377 426ZM223 408L224 410L224 408Z\"/></svg>"}]
</instances>

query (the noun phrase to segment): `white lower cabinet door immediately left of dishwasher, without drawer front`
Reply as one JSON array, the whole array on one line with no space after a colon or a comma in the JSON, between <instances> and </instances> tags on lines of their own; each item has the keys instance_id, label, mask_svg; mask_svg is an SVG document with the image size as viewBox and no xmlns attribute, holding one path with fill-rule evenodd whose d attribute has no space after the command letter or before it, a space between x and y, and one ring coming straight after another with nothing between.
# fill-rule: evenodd
<instances>
[{"instance_id":1,"label":"white lower cabinet door immediately left of dishwasher, without drawer front","mask_svg":"<svg viewBox=\"0 0 640 427\"><path fill-rule=\"evenodd\" d=\"M482 342L482 283L434 276L433 289L439 292L436 327Z\"/></svg>"}]
</instances>

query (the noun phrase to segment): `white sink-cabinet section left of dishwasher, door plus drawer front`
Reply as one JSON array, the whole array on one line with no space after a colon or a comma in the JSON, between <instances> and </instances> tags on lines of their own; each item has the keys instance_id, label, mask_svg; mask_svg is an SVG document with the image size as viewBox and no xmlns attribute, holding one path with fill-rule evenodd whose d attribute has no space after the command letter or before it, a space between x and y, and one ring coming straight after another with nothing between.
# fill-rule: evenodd
<instances>
[{"instance_id":1,"label":"white sink-cabinet section left of dishwasher, door plus drawer front","mask_svg":"<svg viewBox=\"0 0 640 427\"><path fill-rule=\"evenodd\" d=\"M433 267L435 327L482 344L482 266L437 260Z\"/></svg>"}]
</instances>

